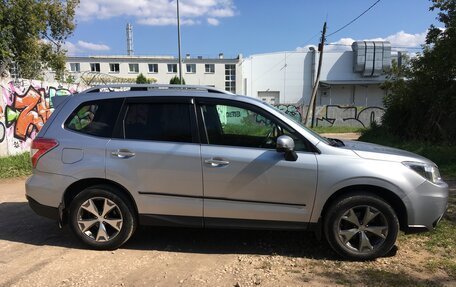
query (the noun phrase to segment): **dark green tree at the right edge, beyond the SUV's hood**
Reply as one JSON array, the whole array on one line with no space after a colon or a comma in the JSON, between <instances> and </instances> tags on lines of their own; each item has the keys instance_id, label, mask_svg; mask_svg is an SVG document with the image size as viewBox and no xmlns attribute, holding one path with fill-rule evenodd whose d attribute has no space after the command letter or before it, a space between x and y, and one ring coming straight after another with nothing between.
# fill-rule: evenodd
<instances>
[{"instance_id":1,"label":"dark green tree at the right edge, beyond the SUV's hood","mask_svg":"<svg viewBox=\"0 0 456 287\"><path fill-rule=\"evenodd\" d=\"M432 0L430 10L444 28L431 26L423 52L393 66L383 125L403 139L456 143L456 0Z\"/></svg>"}]
</instances>

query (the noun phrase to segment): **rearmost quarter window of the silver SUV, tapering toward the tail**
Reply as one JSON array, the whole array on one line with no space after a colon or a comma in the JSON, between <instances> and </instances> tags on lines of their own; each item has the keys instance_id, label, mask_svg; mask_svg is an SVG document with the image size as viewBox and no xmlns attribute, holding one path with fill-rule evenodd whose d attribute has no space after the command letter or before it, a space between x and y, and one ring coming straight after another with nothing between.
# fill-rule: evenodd
<instances>
[{"instance_id":1,"label":"rearmost quarter window of the silver SUV, tapering toward the tail","mask_svg":"<svg viewBox=\"0 0 456 287\"><path fill-rule=\"evenodd\" d=\"M65 122L65 128L76 132L111 137L123 99L85 102Z\"/></svg>"}]
</instances>

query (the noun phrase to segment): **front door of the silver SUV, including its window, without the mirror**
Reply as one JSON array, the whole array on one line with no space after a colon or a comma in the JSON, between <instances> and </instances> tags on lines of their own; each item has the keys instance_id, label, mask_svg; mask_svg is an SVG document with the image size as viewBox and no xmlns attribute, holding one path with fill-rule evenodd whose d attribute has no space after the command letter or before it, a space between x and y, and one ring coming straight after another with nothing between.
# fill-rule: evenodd
<instances>
[{"instance_id":1,"label":"front door of the silver SUV, including its window, without the mirror","mask_svg":"<svg viewBox=\"0 0 456 287\"><path fill-rule=\"evenodd\" d=\"M205 225L302 228L312 211L317 161L297 132L256 106L199 100ZM297 161L275 150L291 136Z\"/></svg>"}]
</instances>

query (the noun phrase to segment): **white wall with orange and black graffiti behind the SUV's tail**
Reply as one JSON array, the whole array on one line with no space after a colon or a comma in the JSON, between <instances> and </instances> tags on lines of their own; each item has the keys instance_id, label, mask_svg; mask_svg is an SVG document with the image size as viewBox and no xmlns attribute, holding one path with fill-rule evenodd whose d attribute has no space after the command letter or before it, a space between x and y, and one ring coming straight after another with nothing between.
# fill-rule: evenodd
<instances>
[{"instance_id":1,"label":"white wall with orange and black graffiti behind the SUV's tail","mask_svg":"<svg viewBox=\"0 0 456 287\"><path fill-rule=\"evenodd\" d=\"M30 150L31 141L54 111L52 98L78 92L77 86L33 80L0 82L0 156Z\"/></svg>"}]
</instances>

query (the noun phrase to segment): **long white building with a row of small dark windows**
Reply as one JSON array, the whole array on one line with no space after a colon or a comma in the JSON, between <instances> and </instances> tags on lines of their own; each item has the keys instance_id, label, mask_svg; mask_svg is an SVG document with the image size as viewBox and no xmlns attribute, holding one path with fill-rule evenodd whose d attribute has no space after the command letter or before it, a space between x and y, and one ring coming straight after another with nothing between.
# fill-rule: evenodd
<instances>
[{"instance_id":1,"label":"long white building with a row of small dark windows","mask_svg":"<svg viewBox=\"0 0 456 287\"><path fill-rule=\"evenodd\" d=\"M187 85L206 85L233 93L241 93L240 61L236 58L191 57L182 60L182 77ZM97 73L116 78L136 79L142 73L146 78L154 79L157 84L169 84L174 76L179 75L178 59L172 56L89 56L68 57L66 69L76 81L86 75Z\"/></svg>"}]
</instances>

